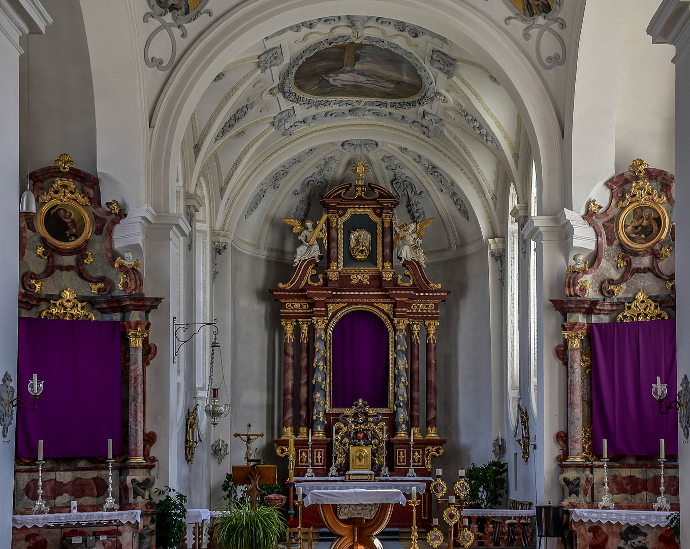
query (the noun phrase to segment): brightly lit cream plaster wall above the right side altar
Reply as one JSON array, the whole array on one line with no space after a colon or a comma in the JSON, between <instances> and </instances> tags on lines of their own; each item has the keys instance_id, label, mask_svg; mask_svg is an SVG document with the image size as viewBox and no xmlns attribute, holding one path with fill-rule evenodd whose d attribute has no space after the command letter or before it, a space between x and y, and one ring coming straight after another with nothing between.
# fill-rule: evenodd
<instances>
[{"instance_id":1,"label":"brightly lit cream plaster wall above the right side altar","mask_svg":"<svg viewBox=\"0 0 690 549\"><path fill-rule=\"evenodd\" d=\"M615 108L615 168L627 171L642 158L653 168L674 172L675 66L670 44L651 44L647 25L657 0L630 0L620 55ZM575 210L581 204L575 204Z\"/></svg>"}]
</instances>

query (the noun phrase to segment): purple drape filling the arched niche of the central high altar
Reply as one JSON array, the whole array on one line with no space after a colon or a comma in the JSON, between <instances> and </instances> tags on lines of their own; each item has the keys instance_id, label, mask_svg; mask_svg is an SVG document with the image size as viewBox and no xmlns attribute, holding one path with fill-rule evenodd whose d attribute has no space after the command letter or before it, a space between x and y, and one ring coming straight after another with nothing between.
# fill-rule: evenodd
<instances>
[{"instance_id":1,"label":"purple drape filling the arched niche of the central high altar","mask_svg":"<svg viewBox=\"0 0 690 549\"><path fill-rule=\"evenodd\" d=\"M362 398L371 407L388 407L388 342L386 323L371 311L351 311L333 327L331 336L331 401L349 408Z\"/></svg>"}]
</instances>

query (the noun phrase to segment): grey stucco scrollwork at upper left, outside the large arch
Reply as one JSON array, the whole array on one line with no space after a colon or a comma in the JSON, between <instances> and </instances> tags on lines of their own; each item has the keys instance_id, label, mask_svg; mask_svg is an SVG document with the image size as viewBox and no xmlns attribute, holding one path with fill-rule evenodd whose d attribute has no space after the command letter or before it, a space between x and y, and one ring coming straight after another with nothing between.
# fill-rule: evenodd
<instances>
[{"instance_id":1,"label":"grey stucco scrollwork at upper left, outside the large arch","mask_svg":"<svg viewBox=\"0 0 690 549\"><path fill-rule=\"evenodd\" d=\"M197 1L196 7L192 8L191 5L193 5L193 2L191 1L188 3L181 3L172 0L146 0L148 8L151 11L144 14L144 23L148 23L149 19L155 19L161 23L158 28L151 32L144 45L144 62L146 62L148 68L155 67L161 72L165 72L172 68L175 64L175 58L177 57L177 43L175 42L175 34L173 34L172 29L177 28L181 38L186 38L186 23L191 23L199 19L202 15L213 17L213 11L206 9L208 2L210 2L210 0ZM168 14L170 14L172 21L166 21L165 17ZM153 39L155 39L162 30L168 33L168 38L170 39L171 52L170 59L168 59L167 63L164 59L150 54Z\"/></svg>"}]
</instances>

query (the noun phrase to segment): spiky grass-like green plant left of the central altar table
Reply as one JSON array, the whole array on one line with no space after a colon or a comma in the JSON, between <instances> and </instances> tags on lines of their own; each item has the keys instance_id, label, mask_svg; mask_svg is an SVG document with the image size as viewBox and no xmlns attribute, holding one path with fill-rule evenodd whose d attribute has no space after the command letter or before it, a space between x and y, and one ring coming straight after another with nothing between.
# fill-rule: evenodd
<instances>
[{"instance_id":1,"label":"spiky grass-like green plant left of the central altar table","mask_svg":"<svg viewBox=\"0 0 690 549\"><path fill-rule=\"evenodd\" d=\"M211 520L213 538L219 549L275 549L285 531L282 513L275 507L236 501Z\"/></svg>"}]
</instances>

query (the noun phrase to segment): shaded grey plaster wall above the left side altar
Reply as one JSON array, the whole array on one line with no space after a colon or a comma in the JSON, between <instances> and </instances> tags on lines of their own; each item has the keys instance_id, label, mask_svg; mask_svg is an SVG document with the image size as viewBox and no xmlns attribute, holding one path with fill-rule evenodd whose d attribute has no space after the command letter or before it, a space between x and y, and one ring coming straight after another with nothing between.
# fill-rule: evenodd
<instances>
[{"instance_id":1,"label":"shaded grey plaster wall above the left side altar","mask_svg":"<svg viewBox=\"0 0 690 549\"><path fill-rule=\"evenodd\" d=\"M76 2L43 3L53 24L45 35L22 39L28 55L21 56L21 175L51 166L61 153L95 174L94 94L81 9Z\"/></svg>"}]
</instances>

